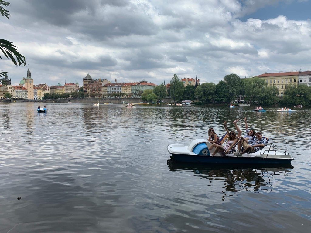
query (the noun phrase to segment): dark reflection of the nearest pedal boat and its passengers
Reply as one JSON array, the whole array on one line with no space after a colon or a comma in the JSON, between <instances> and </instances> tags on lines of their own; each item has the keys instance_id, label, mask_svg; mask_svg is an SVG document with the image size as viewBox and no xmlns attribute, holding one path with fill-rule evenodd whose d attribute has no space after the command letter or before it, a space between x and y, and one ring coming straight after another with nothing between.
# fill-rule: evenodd
<instances>
[{"instance_id":1,"label":"dark reflection of the nearest pedal boat and its passengers","mask_svg":"<svg viewBox=\"0 0 311 233\"><path fill-rule=\"evenodd\" d=\"M272 176L281 175L289 176L291 169L294 168L290 164L287 167L274 166L256 167L250 165L202 165L202 164L187 164L177 162L173 158L167 160L167 165L170 171L191 171L193 176L204 178L207 180L223 180L223 199L228 195L227 192L259 192L263 190L272 191ZM273 165L272 165L273 166ZM212 182L211 182L212 183Z\"/></svg>"}]
</instances>

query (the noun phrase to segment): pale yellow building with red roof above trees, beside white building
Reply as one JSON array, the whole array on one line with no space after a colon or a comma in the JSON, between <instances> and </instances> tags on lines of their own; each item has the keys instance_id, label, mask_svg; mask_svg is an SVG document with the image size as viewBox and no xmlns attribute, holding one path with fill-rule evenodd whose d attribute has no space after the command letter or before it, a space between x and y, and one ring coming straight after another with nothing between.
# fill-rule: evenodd
<instances>
[{"instance_id":1,"label":"pale yellow building with red roof above trees, beside white building","mask_svg":"<svg viewBox=\"0 0 311 233\"><path fill-rule=\"evenodd\" d=\"M279 90L279 96L283 96L287 86L297 87L299 71L264 73L256 77L264 78L269 86L276 86Z\"/></svg>"}]
</instances>

